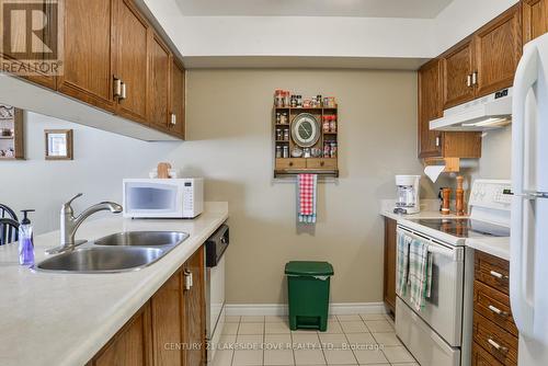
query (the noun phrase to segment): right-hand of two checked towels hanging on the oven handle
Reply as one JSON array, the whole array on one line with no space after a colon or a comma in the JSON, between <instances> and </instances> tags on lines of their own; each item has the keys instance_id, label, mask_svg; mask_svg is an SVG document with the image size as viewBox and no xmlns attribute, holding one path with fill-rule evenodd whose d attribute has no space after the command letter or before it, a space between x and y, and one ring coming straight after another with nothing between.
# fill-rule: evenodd
<instances>
[{"instance_id":1,"label":"right-hand of two checked towels hanging on the oven handle","mask_svg":"<svg viewBox=\"0 0 548 366\"><path fill-rule=\"evenodd\" d=\"M409 301L416 311L421 311L431 295L432 255L429 245L419 240L412 240L409 247Z\"/></svg>"}]
</instances>

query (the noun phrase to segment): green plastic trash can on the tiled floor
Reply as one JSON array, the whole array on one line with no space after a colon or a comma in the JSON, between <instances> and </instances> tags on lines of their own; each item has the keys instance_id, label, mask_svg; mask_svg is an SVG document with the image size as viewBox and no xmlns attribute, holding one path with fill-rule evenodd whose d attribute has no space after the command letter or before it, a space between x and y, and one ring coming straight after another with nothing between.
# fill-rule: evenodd
<instances>
[{"instance_id":1,"label":"green plastic trash can on the tiled floor","mask_svg":"<svg viewBox=\"0 0 548 366\"><path fill-rule=\"evenodd\" d=\"M289 299L289 328L328 330L329 282L333 266L328 262L292 261L285 265Z\"/></svg>"}]
</instances>

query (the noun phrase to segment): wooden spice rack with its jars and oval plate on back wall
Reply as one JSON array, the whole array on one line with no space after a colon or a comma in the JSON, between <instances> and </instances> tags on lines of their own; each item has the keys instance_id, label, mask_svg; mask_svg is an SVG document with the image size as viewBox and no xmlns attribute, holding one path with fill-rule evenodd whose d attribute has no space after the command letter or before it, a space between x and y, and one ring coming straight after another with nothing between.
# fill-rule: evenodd
<instances>
[{"instance_id":1,"label":"wooden spice rack with its jars and oval plate on back wall","mask_svg":"<svg viewBox=\"0 0 548 366\"><path fill-rule=\"evenodd\" d=\"M312 173L339 176L339 113L333 96L274 93L274 178Z\"/></svg>"}]
</instances>

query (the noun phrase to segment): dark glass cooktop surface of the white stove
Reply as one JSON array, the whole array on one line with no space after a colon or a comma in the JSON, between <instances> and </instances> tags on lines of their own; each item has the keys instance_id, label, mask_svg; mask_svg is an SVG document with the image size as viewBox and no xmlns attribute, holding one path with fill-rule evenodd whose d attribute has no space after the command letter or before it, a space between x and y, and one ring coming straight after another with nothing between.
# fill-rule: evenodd
<instances>
[{"instance_id":1,"label":"dark glass cooktop surface of the white stove","mask_svg":"<svg viewBox=\"0 0 548 366\"><path fill-rule=\"evenodd\" d=\"M510 237L510 228L468 218L419 219L413 221L458 238L479 236Z\"/></svg>"}]
</instances>

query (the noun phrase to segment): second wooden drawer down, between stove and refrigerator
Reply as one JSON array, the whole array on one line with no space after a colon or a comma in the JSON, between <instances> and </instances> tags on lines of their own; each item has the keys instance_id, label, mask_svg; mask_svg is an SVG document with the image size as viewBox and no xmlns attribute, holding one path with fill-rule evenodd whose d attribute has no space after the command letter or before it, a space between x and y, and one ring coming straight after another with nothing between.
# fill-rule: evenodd
<instances>
[{"instance_id":1,"label":"second wooden drawer down, between stove and refrigerator","mask_svg":"<svg viewBox=\"0 0 548 366\"><path fill-rule=\"evenodd\" d=\"M512 318L510 297L507 295L483 285L479 281L475 281L473 310L517 336L517 328Z\"/></svg>"}]
</instances>

